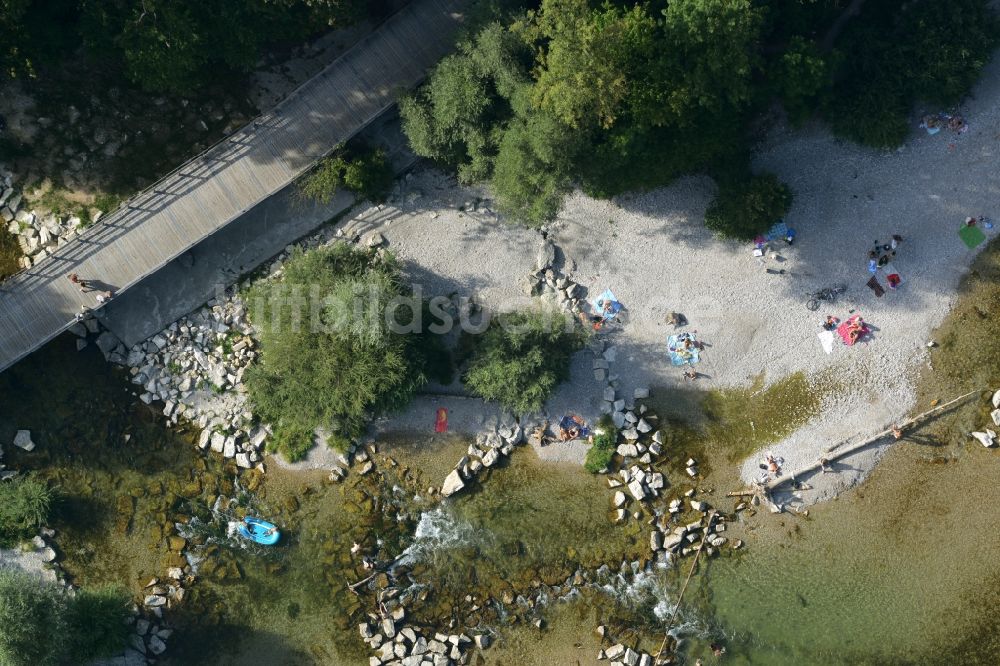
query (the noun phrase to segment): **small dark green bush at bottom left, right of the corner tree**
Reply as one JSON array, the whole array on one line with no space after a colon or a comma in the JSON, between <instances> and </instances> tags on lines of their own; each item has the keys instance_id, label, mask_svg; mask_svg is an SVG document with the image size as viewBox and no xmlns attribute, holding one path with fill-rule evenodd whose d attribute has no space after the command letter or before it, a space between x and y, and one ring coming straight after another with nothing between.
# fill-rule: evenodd
<instances>
[{"instance_id":1,"label":"small dark green bush at bottom left, right of the corner tree","mask_svg":"<svg viewBox=\"0 0 1000 666\"><path fill-rule=\"evenodd\" d=\"M118 586L80 589L69 606L69 634L76 662L107 657L125 645L131 598Z\"/></svg>"}]
</instances>

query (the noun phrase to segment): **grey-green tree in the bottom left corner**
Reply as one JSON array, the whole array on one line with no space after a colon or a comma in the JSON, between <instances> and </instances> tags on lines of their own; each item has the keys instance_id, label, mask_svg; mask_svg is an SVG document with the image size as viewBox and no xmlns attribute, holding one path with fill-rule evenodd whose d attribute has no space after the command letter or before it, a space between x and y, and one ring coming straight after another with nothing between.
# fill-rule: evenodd
<instances>
[{"instance_id":1,"label":"grey-green tree in the bottom left corner","mask_svg":"<svg viewBox=\"0 0 1000 666\"><path fill-rule=\"evenodd\" d=\"M0 666L50 666L68 656L67 604L38 579L0 569Z\"/></svg>"}]
</instances>

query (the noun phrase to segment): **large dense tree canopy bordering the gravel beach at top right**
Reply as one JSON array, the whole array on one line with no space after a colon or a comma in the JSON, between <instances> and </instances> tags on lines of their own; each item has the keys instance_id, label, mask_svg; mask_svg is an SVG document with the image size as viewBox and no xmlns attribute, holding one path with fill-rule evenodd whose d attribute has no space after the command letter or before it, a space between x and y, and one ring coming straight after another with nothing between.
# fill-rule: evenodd
<instances>
[{"instance_id":1,"label":"large dense tree canopy bordering the gravel beach at top right","mask_svg":"<svg viewBox=\"0 0 1000 666\"><path fill-rule=\"evenodd\" d=\"M402 101L404 130L532 225L573 186L609 197L693 172L717 177L718 210L779 210L787 192L750 180L755 116L778 103L896 145L913 104L959 102L998 43L986 0L849 4L541 0L463 41Z\"/></svg>"}]
</instances>

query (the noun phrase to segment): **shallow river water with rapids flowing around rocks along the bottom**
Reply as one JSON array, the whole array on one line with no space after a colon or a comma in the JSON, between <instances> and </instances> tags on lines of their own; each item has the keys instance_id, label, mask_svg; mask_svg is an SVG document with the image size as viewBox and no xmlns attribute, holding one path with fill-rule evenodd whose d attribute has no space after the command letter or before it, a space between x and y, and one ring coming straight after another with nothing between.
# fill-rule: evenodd
<instances>
[{"instance_id":1,"label":"shallow river water with rapids flowing around rocks along the bottom","mask_svg":"<svg viewBox=\"0 0 1000 666\"><path fill-rule=\"evenodd\" d=\"M994 273L976 273L981 283L966 294L975 305L960 303L937 334L942 353L960 361L935 357L922 402L969 382L1000 384L1000 343L977 328L992 330L982 310L1000 307L1000 269L983 261ZM861 487L808 517L747 519L748 547L707 562L685 597L688 663L717 663L708 646L718 641L727 664L1000 662L1000 454L963 435L982 427L984 405L910 433ZM138 594L174 557L166 540L175 522L207 526L192 550L209 564L174 616L169 663L367 663L355 628L366 602L346 589L358 575L354 543L386 560L407 553L417 584L435 589L420 607L435 620L464 609L465 595L559 589L563 600L483 620L497 638L486 664L599 663L593 629L604 623L633 623L654 649L686 574L682 561L681 571L619 575L622 561L645 554L645 526L612 524L602 479L527 448L443 506L421 493L461 456L458 438L389 443L383 453L398 466L379 480L333 484L272 465L241 490L231 466L197 454L187 433L166 429L119 371L72 340L0 375L0 440L17 428L30 428L39 447L5 446L8 465L59 484L57 543L78 582L116 581ZM284 545L261 551L227 539L225 517L210 510L220 497L274 518ZM606 576L566 593L578 569L602 564ZM535 616L543 631L528 622Z\"/></svg>"}]
</instances>

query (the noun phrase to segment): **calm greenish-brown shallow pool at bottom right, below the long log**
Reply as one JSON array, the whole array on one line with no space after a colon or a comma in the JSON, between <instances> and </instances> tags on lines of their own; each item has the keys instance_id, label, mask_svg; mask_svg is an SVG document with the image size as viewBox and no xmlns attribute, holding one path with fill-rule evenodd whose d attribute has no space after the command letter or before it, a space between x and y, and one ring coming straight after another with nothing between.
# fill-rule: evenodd
<instances>
[{"instance_id":1,"label":"calm greenish-brown shallow pool at bottom right, below the long log","mask_svg":"<svg viewBox=\"0 0 1000 666\"><path fill-rule=\"evenodd\" d=\"M978 445L904 444L809 519L767 516L705 588L734 636L727 661L998 663L998 483Z\"/></svg>"}]
</instances>

